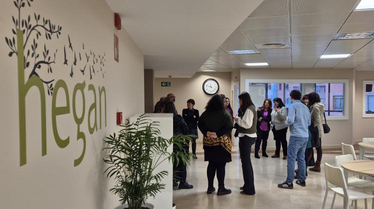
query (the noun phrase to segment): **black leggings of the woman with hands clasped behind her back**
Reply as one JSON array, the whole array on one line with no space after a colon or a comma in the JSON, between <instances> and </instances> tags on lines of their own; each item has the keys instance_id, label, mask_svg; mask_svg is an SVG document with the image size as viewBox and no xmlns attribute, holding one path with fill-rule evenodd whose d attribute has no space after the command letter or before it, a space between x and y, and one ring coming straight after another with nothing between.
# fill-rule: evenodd
<instances>
[{"instance_id":1,"label":"black leggings of the woman with hands clasped behind her back","mask_svg":"<svg viewBox=\"0 0 374 209\"><path fill-rule=\"evenodd\" d=\"M206 176L208 177L208 188L213 187L214 176L217 173L218 188L224 188L226 162L209 161L206 169Z\"/></svg>"}]
</instances>

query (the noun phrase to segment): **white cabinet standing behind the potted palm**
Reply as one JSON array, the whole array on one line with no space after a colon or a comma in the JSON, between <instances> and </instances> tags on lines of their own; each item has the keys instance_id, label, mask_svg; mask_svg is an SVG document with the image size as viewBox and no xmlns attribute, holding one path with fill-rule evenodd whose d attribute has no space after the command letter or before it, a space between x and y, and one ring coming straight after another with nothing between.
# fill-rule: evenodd
<instances>
[{"instance_id":1,"label":"white cabinet standing behind the potted palm","mask_svg":"<svg viewBox=\"0 0 374 209\"><path fill-rule=\"evenodd\" d=\"M140 114L130 117L130 123L136 121ZM170 139L173 136L173 114L172 113L147 113L147 119L151 121L159 122L159 129L161 132L161 137ZM173 145L168 148L168 152L173 152ZM156 172L168 171L168 176L162 180L165 184L165 189L156 195L155 199L147 200L147 203L151 203L156 209L172 209L173 205L173 164L168 160L165 160L162 164L158 166L155 170Z\"/></svg>"}]
</instances>

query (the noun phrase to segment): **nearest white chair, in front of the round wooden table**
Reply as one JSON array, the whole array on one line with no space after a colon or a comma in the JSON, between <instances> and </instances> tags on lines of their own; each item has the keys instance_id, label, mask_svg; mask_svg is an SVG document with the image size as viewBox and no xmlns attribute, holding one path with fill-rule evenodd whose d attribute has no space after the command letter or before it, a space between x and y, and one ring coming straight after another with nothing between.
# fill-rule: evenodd
<instances>
[{"instance_id":1,"label":"nearest white chair, in front of the round wooden table","mask_svg":"<svg viewBox=\"0 0 374 209\"><path fill-rule=\"evenodd\" d=\"M374 198L374 195L370 195L363 192L355 187L348 187L346 179L344 178L343 169L339 167L334 167L325 163L325 179L326 179L326 193L325 199L323 201L322 209L325 208L327 195L329 190L334 192L334 198L331 208L334 207L336 194L344 197L345 209L349 209L349 201L355 201L355 208L357 209L357 200ZM367 209L367 205L365 207Z\"/></svg>"}]
</instances>

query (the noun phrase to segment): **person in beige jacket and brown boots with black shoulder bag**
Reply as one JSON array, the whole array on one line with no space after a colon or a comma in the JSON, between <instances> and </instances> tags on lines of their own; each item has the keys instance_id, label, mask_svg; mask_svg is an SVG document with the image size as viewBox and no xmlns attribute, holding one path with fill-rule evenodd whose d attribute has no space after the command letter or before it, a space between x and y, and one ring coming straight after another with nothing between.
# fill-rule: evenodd
<instances>
[{"instance_id":1,"label":"person in beige jacket and brown boots with black shoulder bag","mask_svg":"<svg viewBox=\"0 0 374 209\"><path fill-rule=\"evenodd\" d=\"M310 171L321 172L321 160L322 160L322 138L324 137L323 132L323 121L325 113L325 105L321 103L320 96L313 92L308 95L309 106L310 106L310 117L312 123L314 124L311 131L312 133L312 144L319 146L316 147L317 150L317 161ZM318 141L319 140L319 143ZM317 142L317 143L316 143Z\"/></svg>"}]
</instances>

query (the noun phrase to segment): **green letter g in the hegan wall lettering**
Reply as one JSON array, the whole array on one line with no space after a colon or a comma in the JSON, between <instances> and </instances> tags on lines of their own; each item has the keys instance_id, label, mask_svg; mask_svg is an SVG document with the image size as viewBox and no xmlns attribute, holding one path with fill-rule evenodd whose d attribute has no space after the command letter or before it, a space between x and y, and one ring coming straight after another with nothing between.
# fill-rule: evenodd
<instances>
[{"instance_id":1,"label":"green letter g in the hegan wall lettering","mask_svg":"<svg viewBox=\"0 0 374 209\"><path fill-rule=\"evenodd\" d=\"M80 83L76 84L74 87L74 91L73 91L73 116L74 116L75 123L77 124L77 141L79 139L83 140L82 154L79 156L79 158L74 160L74 167L78 166L82 162L84 153L86 152L86 135L84 135L84 133L80 131L80 125L83 122L85 107L86 107L86 100L85 100L84 91L83 91L85 87L86 87L86 82L83 81L83 83L81 84ZM82 94L82 115L80 117L77 116L76 99L75 99L78 91L80 91Z\"/></svg>"}]
</instances>

